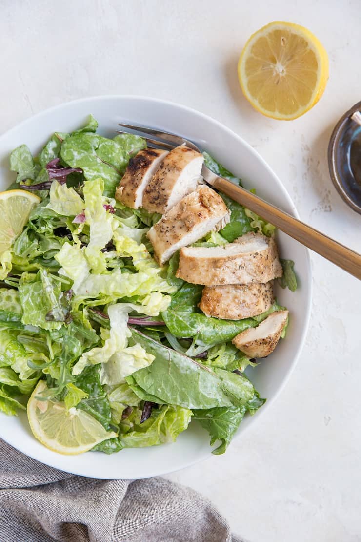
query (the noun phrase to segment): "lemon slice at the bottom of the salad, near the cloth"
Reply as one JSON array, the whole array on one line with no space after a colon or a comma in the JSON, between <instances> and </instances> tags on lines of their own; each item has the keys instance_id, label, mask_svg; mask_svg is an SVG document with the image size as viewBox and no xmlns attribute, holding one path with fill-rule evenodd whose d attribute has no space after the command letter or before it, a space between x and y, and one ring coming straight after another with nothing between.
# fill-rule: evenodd
<instances>
[{"instance_id":1,"label":"lemon slice at the bottom of the salad, near the cloth","mask_svg":"<svg viewBox=\"0 0 361 542\"><path fill-rule=\"evenodd\" d=\"M65 404L38 399L47 390L44 380L38 382L28 402L28 418L32 433L49 450L75 455L88 451L96 444L116 437L84 410L67 410Z\"/></svg>"}]
</instances>

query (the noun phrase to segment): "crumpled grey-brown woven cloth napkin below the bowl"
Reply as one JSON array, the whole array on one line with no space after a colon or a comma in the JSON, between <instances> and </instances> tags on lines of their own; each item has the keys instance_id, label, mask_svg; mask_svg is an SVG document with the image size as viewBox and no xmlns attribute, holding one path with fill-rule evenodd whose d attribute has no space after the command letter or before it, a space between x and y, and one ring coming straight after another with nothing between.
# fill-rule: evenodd
<instances>
[{"instance_id":1,"label":"crumpled grey-brown woven cloth napkin below the bowl","mask_svg":"<svg viewBox=\"0 0 361 542\"><path fill-rule=\"evenodd\" d=\"M99 480L0 440L2 542L242 542L193 489L163 478Z\"/></svg>"}]
</instances>

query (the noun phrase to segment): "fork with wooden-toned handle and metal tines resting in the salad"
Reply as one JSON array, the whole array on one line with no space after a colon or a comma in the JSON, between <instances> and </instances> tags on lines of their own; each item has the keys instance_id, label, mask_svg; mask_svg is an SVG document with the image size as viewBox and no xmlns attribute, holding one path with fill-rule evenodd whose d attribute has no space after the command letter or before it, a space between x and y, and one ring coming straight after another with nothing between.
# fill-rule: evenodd
<instances>
[{"instance_id":1,"label":"fork with wooden-toned handle and metal tines resting in the salad","mask_svg":"<svg viewBox=\"0 0 361 542\"><path fill-rule=\"evenodd\" d=\"M192 141L188 141L180 135L132 124L120 123L119 126L150 136L145 137L147 145L150 147L161 147L162 149L170 151L176 146L186 145L195 151L201 152L199 147L192 143ZM121 130L117 130L117 132L129 133ZM320 233L320 231L311 228L311 226L301 222L297 218L288 215L288 213L281 211L278 207L274 207L274 205L265 202L264 199L255 196L252 192L248 192L248 190L241 186L237 186L231 183L231 181L219 177L205 164L202 166L201 175L205 181L216 190L224 192L235 202L240 203L255 212L257 215L264 218L264 220L270 222L281 231L284 231L284 233L290 235L305 247L317 252L330 262L361 280L361 255L357 252L334 241L330 237L327 237L327 235Z\"/></svg>"}]
</instances>

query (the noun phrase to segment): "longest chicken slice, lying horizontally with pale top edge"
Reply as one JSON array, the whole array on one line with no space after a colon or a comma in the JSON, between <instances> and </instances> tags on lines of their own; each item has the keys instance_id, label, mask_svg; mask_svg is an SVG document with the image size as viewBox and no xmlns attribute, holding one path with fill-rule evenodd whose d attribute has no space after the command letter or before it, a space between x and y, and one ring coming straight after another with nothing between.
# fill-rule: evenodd
<instances>
[{"instance_id":1,"label":"longest chicken slice, lying horizontally with pale top edge","mask_svg":"<svg viewBox=\"0 0 361 542\"><path fill-rule=\"evenodd\" d=\"M269 282L282 276L274 240L246 234L222 247L185 247L176 276L193 284L218 286Z\"/></svg>"}]
</instances>

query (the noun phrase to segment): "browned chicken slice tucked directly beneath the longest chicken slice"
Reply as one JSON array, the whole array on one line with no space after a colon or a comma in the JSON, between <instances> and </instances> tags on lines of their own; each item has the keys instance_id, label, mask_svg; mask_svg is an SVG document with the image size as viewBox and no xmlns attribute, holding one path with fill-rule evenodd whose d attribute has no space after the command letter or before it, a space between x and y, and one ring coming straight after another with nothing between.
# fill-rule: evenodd
<instances>
[{"instance_id":1,"label":"browned chicken slice tucked directly beneath the longest chicken slice","mask_svg":"<svg viewBox=\"0 0 361 542\"><path fill-rule=\"evenodd\" d=\"M205 286L199 308L213 318L241 320L267 311L273 301L272 282Z\"/></svg>"}]
</instances>

